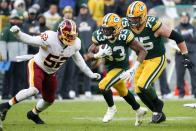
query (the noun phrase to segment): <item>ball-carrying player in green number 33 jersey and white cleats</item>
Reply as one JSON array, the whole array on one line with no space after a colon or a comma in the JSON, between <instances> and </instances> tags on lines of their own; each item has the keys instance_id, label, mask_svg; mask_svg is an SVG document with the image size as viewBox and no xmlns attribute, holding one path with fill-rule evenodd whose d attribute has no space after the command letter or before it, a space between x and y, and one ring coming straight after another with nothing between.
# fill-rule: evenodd
<instances>
[{"instance_id":1,"label":"ball-carrying player in green number 33 jersey and white cleats","mask_svg":"<svg viewBox=\"0 0 196 131\"><path fill-rule=\"evenodd\" d=\"M113 86L119 95L136 111L135 126L139 126L147 113L147 109L140 107L133 94L127 89L125 81L120 80L120 74L129 68L129 49L138 54L132 70L136 70L142 63L147 51L134 39L130 30L122 29L121 23L121 18L114 13L104 16L101 28L93 32L93 44L89 48L88 59L105 58L107 75L99 82L99 89L104 96L108 109L102 121L109 122L117 111L110 89ZM98 46L99 50L95 53Z\"/></svg>"}]
</instances>

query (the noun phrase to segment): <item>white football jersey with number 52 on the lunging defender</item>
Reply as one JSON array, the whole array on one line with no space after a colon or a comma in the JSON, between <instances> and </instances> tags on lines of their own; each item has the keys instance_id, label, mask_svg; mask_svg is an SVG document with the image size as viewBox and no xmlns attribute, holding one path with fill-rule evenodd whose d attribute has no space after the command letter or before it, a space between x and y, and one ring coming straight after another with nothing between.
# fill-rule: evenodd
<instances>
[{"instance_id":1,"label":"white football jersey with number 52 on the lunging defender","mask_svg":"<svg viewBox=\"0 0 196 131\"><path fill-rule=\"evenodd\" d=\"M55 73L69 57L81 48L81 41L78 37L75 44L65 47L59 41L57 32L54 31L46 31L36 38L42 42L40 43L42 46L33 59L48 74Z\"/></svg>"}]
</instances>

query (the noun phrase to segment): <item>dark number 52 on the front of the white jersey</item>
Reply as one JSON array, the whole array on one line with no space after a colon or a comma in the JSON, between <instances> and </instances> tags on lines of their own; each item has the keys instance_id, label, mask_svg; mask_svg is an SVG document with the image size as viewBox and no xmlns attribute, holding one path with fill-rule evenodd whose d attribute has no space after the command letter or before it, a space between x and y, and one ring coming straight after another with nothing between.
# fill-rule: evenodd
<instances>
[{"instance_id":1,"label":"dark number 52 on the front of the white jersey","mask_svg":"<svg viewBox=\"0 0 196 131\"><path fill-rule=\"evenodd\" d=\"M56 69L56 68L59 68L66 60L67 60L67 57L55 56L55 55L49 54L44 60L44 65L49 68Z\"/></svg>"}]
</instances>

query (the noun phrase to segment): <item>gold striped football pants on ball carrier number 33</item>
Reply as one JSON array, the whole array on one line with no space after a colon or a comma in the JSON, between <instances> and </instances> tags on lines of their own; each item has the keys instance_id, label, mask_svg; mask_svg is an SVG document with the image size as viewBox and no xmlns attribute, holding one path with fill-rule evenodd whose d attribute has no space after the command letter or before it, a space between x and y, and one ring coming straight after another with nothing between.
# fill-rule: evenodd
<instances>
[{"instance_id":1,"label":"gold striped football pants on ball carrier number 33","mask_svg":"<svg viewBox=\"0 0 196 131\"><path fill-rule=\"evenodd\" d=\"M120 80L120 74L123 72L121 68L114 68L110 70L107 75L99 82L99 89L107 91L113 86L120 96L124 97L128 93L126 83L124 80ZM119 80L118 80L119 79Z\"/></svg>"}]
</instances>

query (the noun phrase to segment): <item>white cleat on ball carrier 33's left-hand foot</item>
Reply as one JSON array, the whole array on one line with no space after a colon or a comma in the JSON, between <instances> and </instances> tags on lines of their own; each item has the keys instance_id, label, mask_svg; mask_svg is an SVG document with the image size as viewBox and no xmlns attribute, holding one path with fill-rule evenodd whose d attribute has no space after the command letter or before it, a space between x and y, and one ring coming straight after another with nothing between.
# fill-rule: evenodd
<instances>
[{"instance_id":1,"label":"white cleat on ball carrier 33's left-hand foot","mask_svg":"<svg viewBox=\"0 0 196 131\"><path fill-rule=\"evenodd\" d=\"M102 122L104 123L108 123L109 121L111 121L114 117L114 115L116 114L117 109L116 106L112 106L112 107L108 107L107 112L105 113Z\"/></svg>"}]
</instances>

